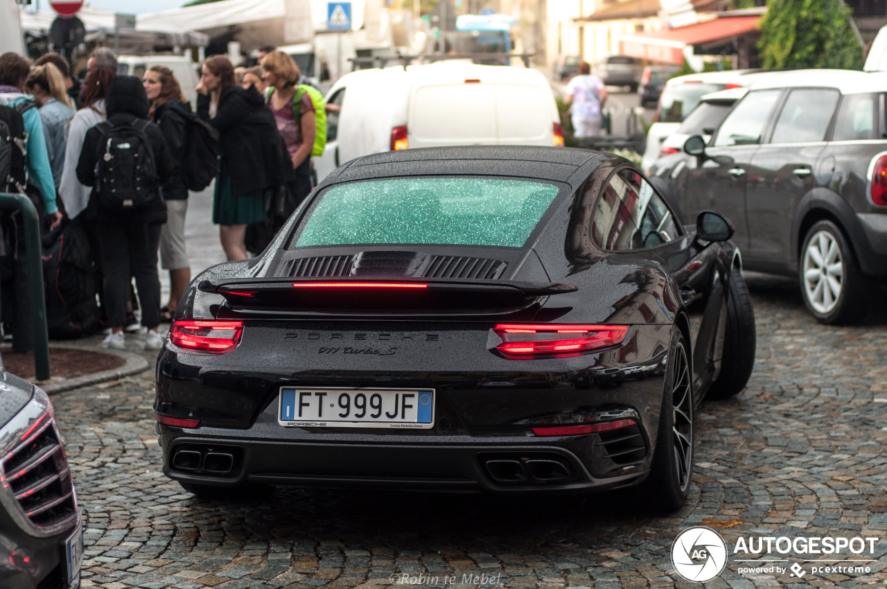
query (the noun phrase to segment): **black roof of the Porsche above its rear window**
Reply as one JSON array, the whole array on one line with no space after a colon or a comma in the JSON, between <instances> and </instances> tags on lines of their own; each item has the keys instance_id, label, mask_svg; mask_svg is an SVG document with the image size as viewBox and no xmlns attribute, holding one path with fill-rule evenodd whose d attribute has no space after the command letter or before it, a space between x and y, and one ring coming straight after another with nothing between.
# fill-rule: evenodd
<instances>
[{"instance_id":1,"label":"black roof of the Porsche above its rear window","mask_svg":"<svg viewBox=\"0 0 887 589\"><path fill-rule=\"evenodd\" d=\"M467 175L567 182L586 163L616 157L587 149L532 145L464 145L373 153L351 161L332 182L381 177Z\"/></svg>"}]
</instances>

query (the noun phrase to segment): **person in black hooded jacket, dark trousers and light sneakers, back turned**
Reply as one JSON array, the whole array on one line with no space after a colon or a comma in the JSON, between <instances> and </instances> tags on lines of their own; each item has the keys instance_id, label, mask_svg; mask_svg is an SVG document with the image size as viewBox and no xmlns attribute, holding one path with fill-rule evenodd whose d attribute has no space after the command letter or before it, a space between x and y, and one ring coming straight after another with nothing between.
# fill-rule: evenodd
<instances>
[{"instance_id":1,"label":"person in black hooded jacket, dark trousers and light sneakers, back turned","mask_svg":"<svg viewBox=\"0 0 887 589\"><path fill-rule=\"evenodd\" d=\"M142 81L131 75L118 75L111 82L107 98L108 122L131 125L148 115L148 97ZM77 178L87 186L96 184L96 164L104 150L98 145L103 136L102 124L90 128L83 139ZM147 122L145 136L151 142L158 183L175 174L177 163L169 155L163 134L153 122ZM134 172L135 173L135 172ZM101 178L99 178L101 179ZM160 349L163 339L157 332L160 324L161 281L157 275L157 246L161 225L166 223L167 210L160 190L150 206L128 212L102 207L96 189L90 195L89 208L94 208L99 224L102 263L105 269L104 290L111 334L102 345L123 349L123 326L126 323L126 302L130 279L136 279L138 298L142 302L142 325L147 327L145 349Z\"/></svg>"}]
</instances>

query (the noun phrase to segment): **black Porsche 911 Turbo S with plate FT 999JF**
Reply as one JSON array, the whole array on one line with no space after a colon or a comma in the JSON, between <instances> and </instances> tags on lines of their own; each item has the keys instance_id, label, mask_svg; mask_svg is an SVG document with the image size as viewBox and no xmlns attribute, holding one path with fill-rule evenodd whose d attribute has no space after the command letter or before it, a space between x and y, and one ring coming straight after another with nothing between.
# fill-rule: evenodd
<instances>
[{"instance_id":1,"label":"black Porsche 911 Turbo S with plate FT 999JF","mask_svg":"<svg viewBox=\"0 0 887 589\"><path fill-rule=\"evenodd\" d=\"M381 153L327 177L263 255L204 271L157 361L163 471L687 498L703 395L748 381L732 226L675 219L611 153Z\"/></svg>"}]
</instances>

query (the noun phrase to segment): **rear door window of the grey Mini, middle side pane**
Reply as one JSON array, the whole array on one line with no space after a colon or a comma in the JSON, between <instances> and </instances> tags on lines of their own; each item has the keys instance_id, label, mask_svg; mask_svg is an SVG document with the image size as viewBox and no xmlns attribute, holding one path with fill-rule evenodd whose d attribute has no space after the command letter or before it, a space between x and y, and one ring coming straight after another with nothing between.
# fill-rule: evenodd
<instances>
[{"instance_id":1,"label":"rear door window of the grey Mini, middle side pane","mask_svg":"<svg viewBox=\"0 0 887 589\"><path fill-rule=\"evenodd\" d=\"M791 90L776 119L770 143L824 141L840 97L836 90Z\"/></svg>"}]
</instances>

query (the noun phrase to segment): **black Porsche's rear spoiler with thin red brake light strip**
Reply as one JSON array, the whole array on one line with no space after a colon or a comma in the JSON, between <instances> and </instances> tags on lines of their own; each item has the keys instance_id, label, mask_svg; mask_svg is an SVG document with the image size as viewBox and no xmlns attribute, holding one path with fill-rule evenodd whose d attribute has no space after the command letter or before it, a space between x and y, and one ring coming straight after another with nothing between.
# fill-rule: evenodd
<instances>
[{"instance_id":1,"label":"black Porsche's rear spoiler with thin red brake light strip","mask_svg":"<svg viewBox=\"0 0 887 589\"><path fill-rule=\"evenodd\" d=\"M467 279L230 279L198 284L224 296L229 309L333 315L501 315L527 309L541 298L578 287L551 282Z\"/></svg>"}]
</instances>

